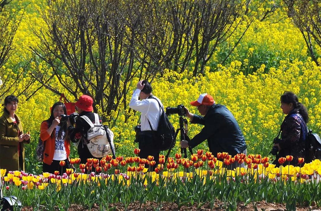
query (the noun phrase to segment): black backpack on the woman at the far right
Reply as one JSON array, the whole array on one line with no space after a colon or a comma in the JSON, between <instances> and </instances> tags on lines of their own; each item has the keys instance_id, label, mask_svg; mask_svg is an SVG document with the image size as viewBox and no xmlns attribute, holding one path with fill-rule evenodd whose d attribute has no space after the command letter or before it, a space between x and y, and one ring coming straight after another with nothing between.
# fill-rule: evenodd
<instances>
[{"instance_id":1,"label":"black backpack on the woman at the far right","mask_svg":"<svg viewBox=\"0 0 321 211\"><path fill-rule=\"evenodd\" d=\"M306 138L306 163L315 159L321 160L321 139L316 133L309 130Z\"/></svg>"}]
</instances>

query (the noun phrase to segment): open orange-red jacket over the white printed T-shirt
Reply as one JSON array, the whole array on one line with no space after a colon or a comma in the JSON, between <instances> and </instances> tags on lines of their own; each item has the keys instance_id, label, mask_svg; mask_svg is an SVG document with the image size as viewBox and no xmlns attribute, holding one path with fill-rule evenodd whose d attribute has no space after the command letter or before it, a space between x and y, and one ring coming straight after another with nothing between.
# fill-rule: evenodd
<instances>
[{"instance_id":1,"label":"open orange-red jacket over the white printed T-shirt","mask_svg":"<svg viewBox=\"0 0 321 211\"><path fill-rule=\"evenodd\" d=\"M54 153L55 153L56 139L54 135L50 136L47 130L48 130L48 122L43 121L40 126L40 139L43 142L46 141L45 150L43 152L43 162L48 165L51 165L52 160L54 158ZM52 131L51 134L55 134L55 133L56 133L56 128ZM70 141L67 140L67 137L68 135L66 134L65 148L66 148L67 158L69 159Z\"/></svg>"}]
</instances>

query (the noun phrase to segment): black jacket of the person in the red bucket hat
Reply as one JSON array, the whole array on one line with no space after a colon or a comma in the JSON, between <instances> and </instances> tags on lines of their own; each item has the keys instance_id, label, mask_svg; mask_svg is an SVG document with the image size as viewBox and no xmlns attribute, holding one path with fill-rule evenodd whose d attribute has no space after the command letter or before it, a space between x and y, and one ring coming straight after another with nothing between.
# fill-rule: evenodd
<instances>
[{"instance_id":1,"label":"black jacket of the person in the red bucket hat","mask_svg":"<svg viewBox=\"0 0 321 211\"><path fill-rule=\"evenodd\" d=\"M76 120L75 127L70 126L70 140L74 143L76 143L80 136L82 136L82 139L80 139L80 142L78 144L78 155L79 158L81 159L81 163L86 163L87 158L95 158L91 155L91 153L88 150L88 147L85 143L82 142L83 139L87 140L87 132L90 128L90 125L88 123L80 118L81 116L87 116L92 123L95 123L95 115L91 111L83 111L82 113L79 114L78 119ZM99 121L101 123L101 117L99 116Z\"/></svg>"}]
</instances>

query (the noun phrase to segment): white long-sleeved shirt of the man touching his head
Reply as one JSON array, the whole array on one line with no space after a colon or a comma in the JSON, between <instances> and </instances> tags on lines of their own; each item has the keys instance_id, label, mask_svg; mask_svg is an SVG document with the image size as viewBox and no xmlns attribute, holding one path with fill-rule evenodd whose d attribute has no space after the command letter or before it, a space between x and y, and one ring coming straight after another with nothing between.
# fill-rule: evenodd
<instances>
[{"instance_id":1,"label":"white long-sleeved shirt of the man touching his head","mask_svg":"<svg viewBox=\"0 0 321 211\"><path fill-rule=\"evenodd\" d=\"M154 97L157 99L146 99L146 100L138 100L139 93L141 91L139 89L136 89L133 93L132 99L130 100L129 107L133 110L137 110L142 113L141 115L141 130L151 130L151 127L148 124L148 120L152 125L153 130L157 130L158 123L160 120L160 114L163 112L160 109L160 106L157 101L160 102L160 100L157 97ZM161 107L164 109L163 104L160 102ZM148 120L147 120L148 118Z\"/></svg>"}]
</instances>

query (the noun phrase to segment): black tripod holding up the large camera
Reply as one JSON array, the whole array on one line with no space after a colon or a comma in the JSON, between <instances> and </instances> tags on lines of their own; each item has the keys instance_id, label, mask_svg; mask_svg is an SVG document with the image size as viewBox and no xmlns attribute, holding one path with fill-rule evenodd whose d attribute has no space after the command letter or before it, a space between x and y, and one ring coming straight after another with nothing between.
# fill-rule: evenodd
<instances>
[{"instance_id":1,"label":"black tripod holding up the large camera","mask_svg":"<svg viewBox=\"0 0 321 211\"><path fill-rule=\"evenodd\" d=\"M176 130L176 133L175 133L175 136L173 138L173 141L170 145L170 148L166 154L166 157L165 157L165 162L167 161L168 157L169 157L169 154L170 154L170 151L172 150L173 146L174 146L174 143L176 141L176 137L178 135L178 132L180 131L180 140L186 140L186 141L190 141L188 135L187 135L187 120L183 117L183 116L179 116L179 128ZM191 154L193 154L193 150L191 147L188 147L188 150ZM187 152L186 152L186 148L182 148L181 147L181 154L184 153L184 158L187 158Z\"/></svg>"}]
</instances>

